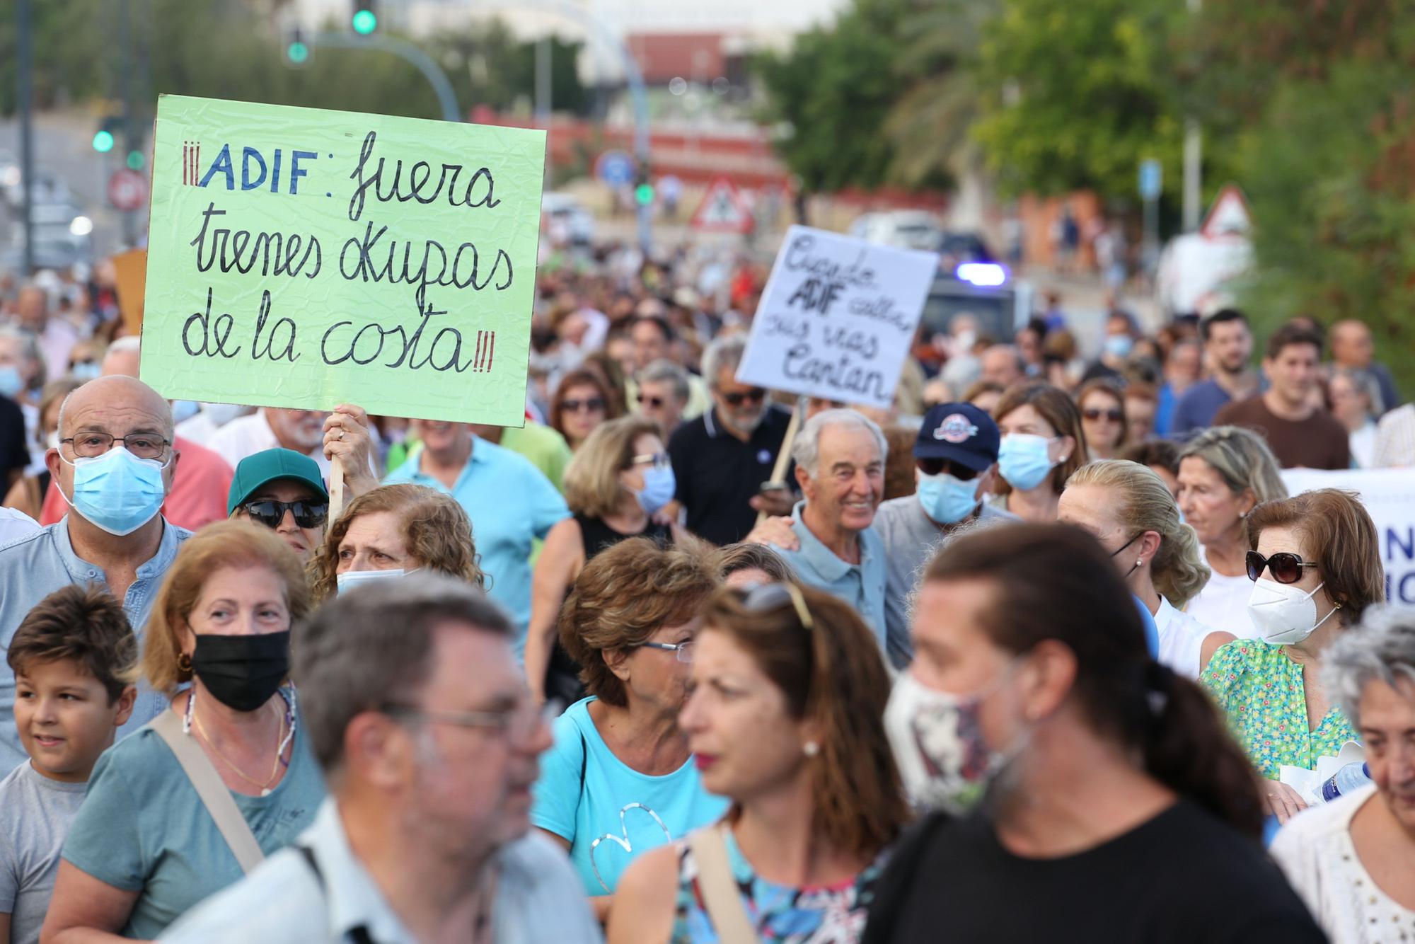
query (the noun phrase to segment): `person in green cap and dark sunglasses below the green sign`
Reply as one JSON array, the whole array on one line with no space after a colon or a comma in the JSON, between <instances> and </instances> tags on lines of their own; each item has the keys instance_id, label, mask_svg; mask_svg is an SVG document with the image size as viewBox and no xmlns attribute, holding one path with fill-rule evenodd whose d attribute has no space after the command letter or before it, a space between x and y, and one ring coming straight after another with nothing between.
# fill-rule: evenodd
<instances>
[{"instance_id":1,"label":"person in green cap and dark sunglasses below the green sign","mask_svg":"<svg viewBox=\"0 0 1415 944\"><path fill-rule=\"evenodd\" d=\"M324 543L330 494L313 459L291 449L266 449L236 464L226 514L273 529L304 566Z\"/></svg>"}]
</instances>

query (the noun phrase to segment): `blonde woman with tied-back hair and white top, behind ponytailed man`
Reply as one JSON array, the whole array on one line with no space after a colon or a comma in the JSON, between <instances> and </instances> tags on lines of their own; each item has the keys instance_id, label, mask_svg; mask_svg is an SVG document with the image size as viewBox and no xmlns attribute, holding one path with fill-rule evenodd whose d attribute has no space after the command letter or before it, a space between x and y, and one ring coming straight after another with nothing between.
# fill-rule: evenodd
<instances>
[{"instance_id":1,"label":"blonde woman with tied-back hair and white top, behind ponytailed man","mask_svg":"<svg viewBox=\"0 0 1415 944\"><path fill-rule=\"evenodd\" d=\"M1094 461L1067 480L1058 515L1111 552L1131 593L1155 617L1159 661L1197 679L1208 655L1234 637L1183 611L1208 582L1208 566L1165 481L1138 463Z\"/></svg>"}]
</instances>

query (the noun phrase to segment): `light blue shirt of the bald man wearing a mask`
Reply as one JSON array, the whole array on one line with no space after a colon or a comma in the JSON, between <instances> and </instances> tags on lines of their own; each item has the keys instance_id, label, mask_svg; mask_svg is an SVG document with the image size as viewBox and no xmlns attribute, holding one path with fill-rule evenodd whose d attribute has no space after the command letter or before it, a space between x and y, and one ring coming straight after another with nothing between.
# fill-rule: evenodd
<instances>
[{"instance_id":1,"label":"light blue shirt of the bald man wearing a mask","mask_svg":"<svg viewBox=\"0 0 1415 944\"><path fill-rule=\"evenodd\" d=\"M139 644L143 640L147 616L153 611L157 589L167 576L167 568L177 558L177 548L190 536L190 531L164 519L157 553L137 568L137 579L127 587L123 610L133 626L133 633L137 634ZM68 515L58 524L0 545L0 645L8 648L14 631L20 628L30 610L44 597L71 583L106 585L106 577L98 565L74 553ZM133 716L117 729L117 736L132 735L166 708L167 699L163 695L140 684ZM4 660L0 660L0 777L25 760L28 754L20 746L20 733L14 727L14 672Z\"/></svg>"}]
</instances>

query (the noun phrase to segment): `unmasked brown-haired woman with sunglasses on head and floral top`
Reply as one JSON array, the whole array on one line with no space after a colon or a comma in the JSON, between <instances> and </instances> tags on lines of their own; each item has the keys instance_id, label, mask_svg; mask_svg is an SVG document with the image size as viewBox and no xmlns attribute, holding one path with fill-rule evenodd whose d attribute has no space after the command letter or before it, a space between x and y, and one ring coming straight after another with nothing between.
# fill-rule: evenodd
<instances>
[{"instance_id":1,"label":"unmasked brown-haired woman with sunglasses on head and floral top","mask_svg":"<svg viewBox=\"0 0 1415 944\"><path fill-rule=\"evenodd\" d=\"M768 583L713 596L696 648L679 723L732 808L630 868L610 944L857 941L910 818L874 634L828 593Z\"/></svg>"}]
</instances>

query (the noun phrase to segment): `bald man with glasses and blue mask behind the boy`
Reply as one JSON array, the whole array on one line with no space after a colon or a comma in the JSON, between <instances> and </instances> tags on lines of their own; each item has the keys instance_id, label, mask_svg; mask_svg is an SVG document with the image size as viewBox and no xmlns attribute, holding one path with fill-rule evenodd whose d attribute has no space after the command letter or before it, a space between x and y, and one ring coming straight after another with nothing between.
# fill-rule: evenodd
<instances>
[{"instance_id":1,"label":"bald man with glasses and blue mask behind the boy","mask_svg":"<svg viewBox=\"0 0 1415 944\"><path fill-rule=\"evenodd\" d=\"M132 376L100 376L69 393L59 443L45 463L69 512L57 524L0 546L0 648L45 596L71 583L99 583L123 603L142 638L157 587L190 531L160 510L181 453L173 449L167 401ZM0 665L0 774L25 760L14 727L14 674ZM129 735L166 708L139 688Z\"/></svg>"}]
</instances>

